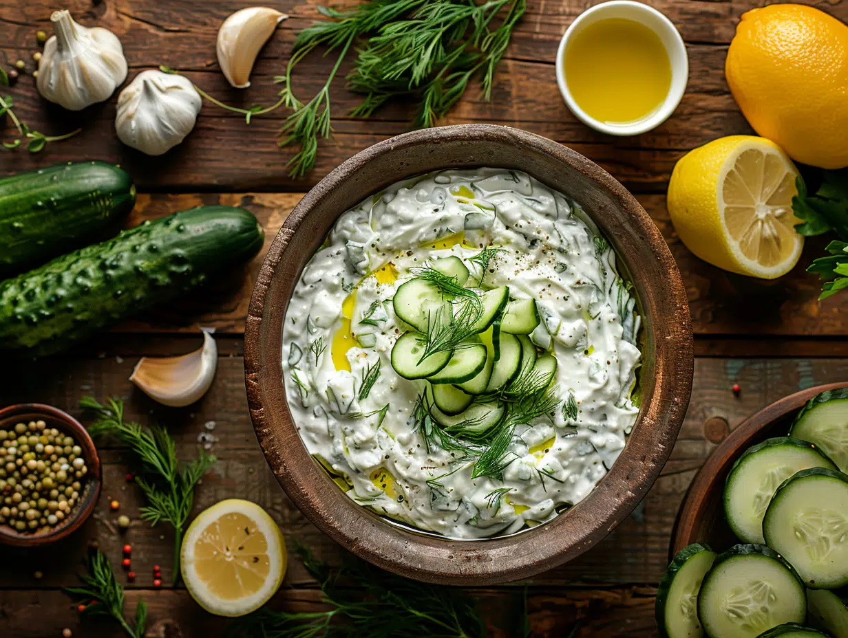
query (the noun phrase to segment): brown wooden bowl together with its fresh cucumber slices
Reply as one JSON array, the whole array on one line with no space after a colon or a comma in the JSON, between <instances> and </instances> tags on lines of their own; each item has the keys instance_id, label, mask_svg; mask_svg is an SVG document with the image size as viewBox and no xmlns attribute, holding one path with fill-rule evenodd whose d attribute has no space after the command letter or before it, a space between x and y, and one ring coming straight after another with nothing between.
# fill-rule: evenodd
<instances>
[{"instance_id":1,"label":"brown wooden bowl together with its fresh cucumber slices","mask_svg":"<svg viewBox=\"0 0 848 638\"><path fill-rule=\"evenodd\" d=\"M661 635L848 638L848 383L774 402L707 459L661 581Z\"/></svg>"}]
</instances>

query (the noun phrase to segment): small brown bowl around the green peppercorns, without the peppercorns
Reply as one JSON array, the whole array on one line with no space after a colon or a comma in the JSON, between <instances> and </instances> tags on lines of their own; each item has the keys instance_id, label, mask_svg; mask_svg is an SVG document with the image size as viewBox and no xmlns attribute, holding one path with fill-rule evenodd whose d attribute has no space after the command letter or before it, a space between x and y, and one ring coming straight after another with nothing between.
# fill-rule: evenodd
<instances>
[{"instance_id":1,"label":"small brown bowl around the green peppercorns, without the peppercorns","mask_svg":"<svg viewBox=\"0 0 848 638\"><path fill-rule=\"evenodd\" d=\"M85 520L91 516L94 506L100 496L100 458L94 447L92 437L82 424L70 414L62 412L59 408L53 408L42 403L19 403L8 408L0 409L0 429L6 430L9 425L20 422L29 423L41 419L47 423L48 428L56 428L60 432L66 432L76 444L82 448L82 454L86 459L88 474L86 485L82 487L80 501L71 511L70 516L50 530L35 533L20 532L13 530L8 525L0 525L0 543L20 547L34 547L59 541L80 527Z\"/></svg>"}]
</instances>

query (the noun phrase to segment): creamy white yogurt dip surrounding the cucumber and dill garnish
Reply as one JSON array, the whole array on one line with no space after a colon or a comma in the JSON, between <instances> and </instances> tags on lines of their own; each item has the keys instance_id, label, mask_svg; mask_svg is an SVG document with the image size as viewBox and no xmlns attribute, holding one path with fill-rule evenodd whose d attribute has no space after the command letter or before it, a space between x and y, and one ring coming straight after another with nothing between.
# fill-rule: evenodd
<instances>
[{"instance_id":1,"label":"creamy white yogurt dip surrounding the cucumber and dill garnish","mask_svg":"<svg viewBox=\"0 0 848 638\"><path fill-rule=\"evenodd\" d=\"M483 273L471 258L488 246L500 250ZM530 337L557 360L560 402L516 426L502 480L472 479L473 455L427 445L414 418L427 382L390 360L408 329L395 291L410 269L450 255L483 287L533 297L541 322ZM575 202L515 170L443 170L361 202L287 309L282 368L304 445L355 502L421 530L474 539L554 518L604 476L639 412L640 318L615 259Z\"/></svg>"}]
</instances>

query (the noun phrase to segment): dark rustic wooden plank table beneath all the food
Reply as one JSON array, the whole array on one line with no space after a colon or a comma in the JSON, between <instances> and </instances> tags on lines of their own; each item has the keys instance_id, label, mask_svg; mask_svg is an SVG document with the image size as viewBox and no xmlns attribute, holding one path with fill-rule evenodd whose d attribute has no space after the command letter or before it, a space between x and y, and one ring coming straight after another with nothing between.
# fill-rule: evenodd
<instances>
[{"instance_id":1,"label":"dark rustic wooden plank table beneath all the food","mask_svg":"<svg viewBox=\"0 0 848 638\"><path fill-rule=\"evenodd\" d=\"M678 506L689 481L717 442L758 408L790 392L848 377L848 297L817 302L818 281L804 272L822 253L823 241L808 241L801 264L782 280L748 280L701 262L674 234L665 205L665 190L674 163L683 153L717 136L749 133L750 128L728 92L723 75L728 42L739 16L761 0L651 0L678 26L689 50L689 89L672 118L656 130L633 138L603 136L581 125L562 103L556 88L554 60L562 32L594 2L531 0L510 50L499 69L494 99L483 102L472 89L444 124L491 122L516 126L561 141L609 170L633 191L655 219L683 273L695 330L695 389L671 460L648 497L628 521L582 558L551 569L527 582L475 591L494 635L510 635L527 589L528 610L536 635L656 635L654 595L667 564L669 539ZM215 62L215 34L221 21L245 3L234 0L31 0L0 2L0 64L25 60L33 69L37 30L49 31L57 4L70 8L84 25L103 25L123 42L131 77L142 69L169 64L227 103L271 103L273 76L282 72L295 31L310 24L310 3L271 0L267 4L292 15L265 47L256 64L253 86L229 88ZM834 0L820 8L848 20L848 4ZM298 69L297 92L312 95L326 75L326 61L310 58ZM72 141L48 145L42 153L0 155L3 175L23 169L85 159L119 163L136 180L138 203L130 224L198 204L226 203L253 211L265 225L266 247L304 191L343 159L375 141L408 129L409 105L377 113L374 119L349 119L355 97L332 91L332 141L322 143L318 165L305 180L287 177L291 152L276 146L285 114L254 119L245 125L236 114L204 105L196 130L163 158L151 159L123 147L114 135L115 97L108 103L71 114L38 97L24 75L11 93L17 112L32 127L60 133L81 126ZM195 509L227 497L258 502L283 533L315 548L321 558L338 564L343 551L309 523L277 485L259 450L248 415L243 381L242 334L248 299L262 256L246 271L167 308L112 331L98 341L24 370L3 371L0 406L38 401L79 415L83 395L126 399L131 419L167 424L182 457L191 457L205 424L215 423L212 450L220 460L204 478ZM215 384L191 408L161 408L131 386L127 378L145 354L187 352L198 347L196 325L214 326L220 349ZM739 383L734 397L731 386ZM120 571L120 547L133 546L134 584L127 599L143 596L150 606L152 635L168 635L163 624L176 624L182 635L220 635L221 621L204 613L182 589L153 590L153 565L170 583L171 538L167 530L137 519L137 488L126 482L127 465L120 449L105 448L103 497L92 519L66 541L21 552L0 549L0 635L9 638L58 636L70 627L75 636L118 636L114 624L80 624L60 587L76 582L86 546L98 541ZM116 529L117 514L133 518L126 534ZM36 580L34 573L43 576ZM285 586L272 604L315 608L320 593L294 560Z\"/></svg>"}]
</instances>

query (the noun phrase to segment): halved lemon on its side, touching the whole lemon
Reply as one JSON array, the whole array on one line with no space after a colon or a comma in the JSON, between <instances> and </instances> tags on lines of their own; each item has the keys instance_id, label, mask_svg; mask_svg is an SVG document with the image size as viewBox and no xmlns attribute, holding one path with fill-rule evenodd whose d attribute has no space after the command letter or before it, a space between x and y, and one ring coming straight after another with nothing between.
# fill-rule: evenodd
<instances>
[{"instance_id":1,"label":"halved lemon on its side, touching the whole lemon","mask_svg":"<svg viewBox=\"0 0 848 638\"><path fill-rule=\"evenodd\" d=\"M801 258L792 212L798 169L773 141L720 137L683 156L668 185L678 236L704 261L739 275L775 279Z\"/></svg>"}]
</instances>

